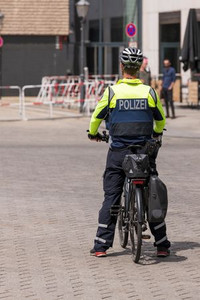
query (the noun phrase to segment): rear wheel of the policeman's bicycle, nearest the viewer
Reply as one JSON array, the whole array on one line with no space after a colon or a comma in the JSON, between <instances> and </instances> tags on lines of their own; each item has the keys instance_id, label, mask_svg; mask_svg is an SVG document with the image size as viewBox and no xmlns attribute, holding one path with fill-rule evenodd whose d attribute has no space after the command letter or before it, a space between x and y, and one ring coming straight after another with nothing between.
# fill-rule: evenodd
<instances>
[{"instance_id":1,"label":"rear wheel of the policeman's bicycle, nearest the viewer","mask_svg":"<svg viewBox=\"0 0 200 300\"><path fill-rule=\"evenodd\" d=\"M132 258L135 263L138 263L141 256L142 248L142 191L140 188L132 192L130 202L130 241Z\"/></svg>"}]
</instances>

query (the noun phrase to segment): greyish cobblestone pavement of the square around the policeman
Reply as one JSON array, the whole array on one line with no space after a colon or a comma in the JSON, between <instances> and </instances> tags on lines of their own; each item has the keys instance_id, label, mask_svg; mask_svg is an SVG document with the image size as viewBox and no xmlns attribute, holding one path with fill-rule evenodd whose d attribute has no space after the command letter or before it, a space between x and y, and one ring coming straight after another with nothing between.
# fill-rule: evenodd
<instances>
[{"instance_id":1,"label":"greyish cobblestone pavement of the square around the policeman","mask_svg":"<svg viewBox=\"0 0 200 300\"><path fill-rule=\"evenodd\" d=\"M89 256L108 147L86 139L89 120L0 122L0 300L200 299L200 112L177 115L158 159L172 255L151 239L140 264L117 234Z\"/></svg>"}]
</instances>

